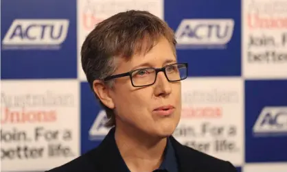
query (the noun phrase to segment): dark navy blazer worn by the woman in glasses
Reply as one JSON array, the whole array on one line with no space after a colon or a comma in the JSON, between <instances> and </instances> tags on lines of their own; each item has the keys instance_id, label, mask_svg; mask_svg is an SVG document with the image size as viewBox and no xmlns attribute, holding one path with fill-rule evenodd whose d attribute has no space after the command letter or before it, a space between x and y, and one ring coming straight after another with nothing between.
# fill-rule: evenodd
<instances>
[{"instance_id":1,"label":"dark navy blazer worn by the woman in glasses","mask_svg":"<svg viewBox=\"0 0 287 172\"><path fill-rule=\"evenodd\" d=\"M114 134L115 128L113 127L98 147L47 172L126 172L127 167L117 149ZM174 150L178 169L174 168L174 165L165 166L165 162L173 163L174 161L174 156L166 156L171 159L164 161L161 167L165 167L168 172L237 172L229 161L220 160L181 145L173 136L170 136L169 140L172 149L167 148L166 153L168 154L168 150Z\"/></svg>"}]
</instances>

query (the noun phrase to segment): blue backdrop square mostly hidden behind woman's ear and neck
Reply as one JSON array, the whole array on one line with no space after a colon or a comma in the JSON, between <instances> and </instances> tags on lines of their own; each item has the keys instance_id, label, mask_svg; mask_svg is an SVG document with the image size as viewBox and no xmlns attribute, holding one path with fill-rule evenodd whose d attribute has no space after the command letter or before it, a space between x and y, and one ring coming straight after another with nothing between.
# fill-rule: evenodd
<instances>
[{"instance_id":1,"label":"blue backdrop square mostly hidden behind woman's ear and neck","mask_svg":"<svg viewBox=\"0 0 287 172\"><path fill-rule=\"evenodd\" d=\"M108 134L106 113L100 107L88 82L80 84L81 154L97 147Z\"/></svg>"}]
</instances>

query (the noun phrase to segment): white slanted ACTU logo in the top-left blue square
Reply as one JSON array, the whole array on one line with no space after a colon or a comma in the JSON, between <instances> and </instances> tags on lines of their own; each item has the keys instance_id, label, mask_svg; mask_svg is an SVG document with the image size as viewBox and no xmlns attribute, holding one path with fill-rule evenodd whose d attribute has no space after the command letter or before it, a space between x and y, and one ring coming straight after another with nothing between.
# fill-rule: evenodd
<instances>
[{"instance_id":1,"label":"white slanted ACTU logo in the top-left blue square","mask_svg":"<svg viewBox=\"0 0 287 172\"><path fill-rule=\"evenodd\" d=\"M2 40L3 46L55 46L67 38L67 19L15 19Z\"/></svg>"}]
</instances>

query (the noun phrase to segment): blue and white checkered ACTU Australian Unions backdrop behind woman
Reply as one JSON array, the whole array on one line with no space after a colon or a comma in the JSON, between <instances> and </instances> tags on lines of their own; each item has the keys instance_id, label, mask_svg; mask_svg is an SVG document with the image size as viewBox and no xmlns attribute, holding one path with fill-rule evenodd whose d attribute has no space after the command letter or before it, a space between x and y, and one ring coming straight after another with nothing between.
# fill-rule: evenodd
<instances>
[{"instance_id":1,"label":"blue and white checkered ACTU Australian Unions backdrop behind woman","mask_svg":"<svg viewBox=\"0 0 287 172\"><path fill-rule=\"evenodd\" d=\"M2 0L2 171L44 171L99 145L106 116L80 47L131 9L168 22L189 64L174 137L238 171L286 172L286 0Z\"/></svg>"}]
</instances>

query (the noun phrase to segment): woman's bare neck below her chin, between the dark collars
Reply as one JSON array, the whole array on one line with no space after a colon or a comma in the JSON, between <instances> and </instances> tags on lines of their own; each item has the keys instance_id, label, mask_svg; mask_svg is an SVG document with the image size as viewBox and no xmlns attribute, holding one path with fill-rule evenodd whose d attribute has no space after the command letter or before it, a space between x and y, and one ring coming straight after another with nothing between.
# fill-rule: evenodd
<instances>
[{"instance_id":1,"label":"woman's bare neck below her chin, between the dark collars","mask_svg":"<svg viewBox=\"0 0 287 172\"><path fill-rule=\"evenodd\" d=\"M152 171L163 160L167 138L152 138L135 128L115 128L115 142L130 171Z\"/></svg>"}]
</instances>

